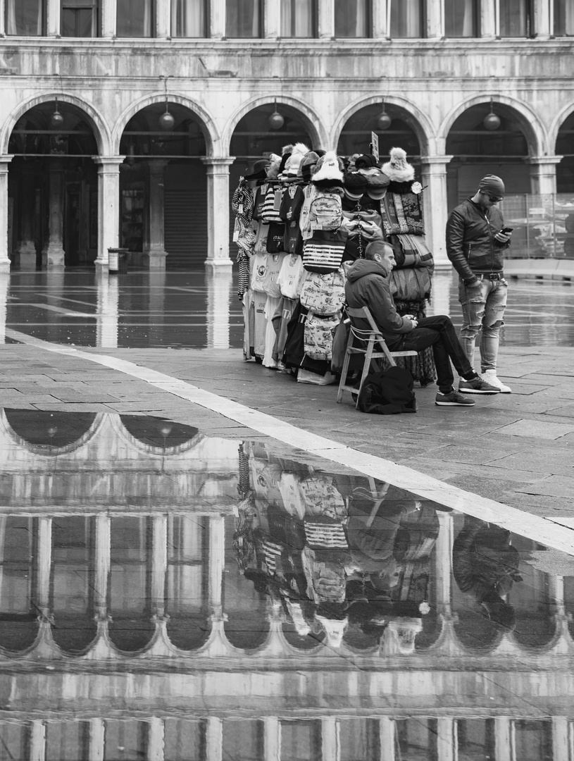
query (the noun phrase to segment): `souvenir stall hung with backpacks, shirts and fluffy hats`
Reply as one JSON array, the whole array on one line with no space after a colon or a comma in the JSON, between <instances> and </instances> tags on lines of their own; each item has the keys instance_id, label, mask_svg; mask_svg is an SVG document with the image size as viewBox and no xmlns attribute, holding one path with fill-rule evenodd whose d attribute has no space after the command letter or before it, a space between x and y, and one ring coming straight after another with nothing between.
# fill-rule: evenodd
<instances>
[{"instance_id":1,"label":"souvenir stall hung with backpacks, shirts and fluffy hats","mask_svg":"<svg viewBox=\"0 0 574 761\"><path fill-rule=\"evenodd\" d=\"M392 148L382 167L371 154L341 158L303 143L256 161L232 201L244 358L299 383L334 383L345 268L373 240L395 250L391 289L399 314L424 317L433 256L422 190L401 148ZM421 385L435 379L430 349L400 361Z\"/></svg>"}]
</instances>

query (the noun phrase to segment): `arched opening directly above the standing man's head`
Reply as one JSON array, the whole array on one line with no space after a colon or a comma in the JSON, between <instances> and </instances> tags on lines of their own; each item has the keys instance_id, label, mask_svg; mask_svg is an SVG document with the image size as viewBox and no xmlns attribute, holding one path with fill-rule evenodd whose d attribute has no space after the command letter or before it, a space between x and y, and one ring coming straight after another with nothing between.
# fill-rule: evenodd
<instances>
[{"instance_id":1,"label":"arched opening directly above the standing man's head","mask_svg":"<svg viewBox=\"0 0 574 761\"><path fill-rule=\"evenodd\" d=\"M492 115L497 118L492 118ZM490 129L489 129L490 128ZM474 195L481 177L502 177L506 195L530 193L528 138L518 113L503 103L479 103L458 116L446 139L449 210Z\"/></svg>"}]
</instances>

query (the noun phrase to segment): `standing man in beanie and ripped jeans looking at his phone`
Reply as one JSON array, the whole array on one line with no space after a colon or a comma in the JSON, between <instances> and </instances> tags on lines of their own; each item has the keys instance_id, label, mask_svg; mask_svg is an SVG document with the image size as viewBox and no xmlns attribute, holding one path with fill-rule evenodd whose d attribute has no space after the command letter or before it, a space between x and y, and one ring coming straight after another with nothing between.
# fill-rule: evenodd
<instances>
[{"instance_id":1,"label":"standing man in beanie and ripped jeans looking at his phone","mask_svg":"<svg viewBox=\"0 0 574 761\"><path fill-rule=\"evenodd\" d=\"M461 343L474 367L474 345L480 337L480 377L502 393L511 389L496 377L496 358L508 283L504 278L504 250L510 245L497 203L504 183L487 174L472 198L459 204L446 222L446 253L458 272L458 301L462 307Z\"/></svg>"}]
</instances>

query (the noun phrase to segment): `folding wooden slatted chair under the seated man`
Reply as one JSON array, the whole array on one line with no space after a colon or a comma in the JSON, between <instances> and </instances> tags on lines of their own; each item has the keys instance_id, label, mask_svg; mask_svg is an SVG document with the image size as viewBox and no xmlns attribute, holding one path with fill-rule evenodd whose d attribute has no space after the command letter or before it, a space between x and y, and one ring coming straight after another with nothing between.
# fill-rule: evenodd
<instances>
[{"instance_id":1,"label":"folding wooden slatted chair under the seated man","mask_svg":"<svg viewBox=\"0 0 574 761\"><path fill-rule=\"evenodd\" d=\"M377 369L373 360L382 359L384 357L390 365L395 366L397 363L395 362L394 357L416 357L417 352L390 352L385 343L385 339L382 337L379 328L376 326L375 320L373 320L373 315L370 313L369 307L360 307L360 309L351 309L350 307L347 307L346 312L347 317L349 317L350 320L350 331L347 340L347 349L345 350L343 368L341 369L341 380L339 381L337 402L338 404L341 404L343 392L349 391L350 393L357 394L357 400L355 402L356 407L359 403L360 390L363 388L365 378L369 374L371 364L373 363L373 368ZM357 327L357 320L366 320L369 323L370 330L364 330L363 328ZM357 342L359 345L354 346L354 342ZM376 352L374 350L376 343L379 344L381 351ZM363 355L363 373L361 374L358 388L357 386L347 384L347 372L349 370L350 355L352 354Z\"/></svg>"}]
</instances>

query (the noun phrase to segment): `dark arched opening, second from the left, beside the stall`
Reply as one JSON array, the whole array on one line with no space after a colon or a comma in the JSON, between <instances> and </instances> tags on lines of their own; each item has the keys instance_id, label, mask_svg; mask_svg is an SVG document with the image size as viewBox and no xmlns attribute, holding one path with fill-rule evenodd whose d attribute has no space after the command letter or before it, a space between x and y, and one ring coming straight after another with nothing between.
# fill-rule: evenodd
<instances>
[{"instance_id":1,"label":"dark arched opening, second from the left, beside the stall","mask_svg":"<svg viewBox=\"0 0 574 761\"><path fill-rule=\"evenodd\" d=\"M122 133L119 244L135 266L196 266L208 247L206 145L198 117L167 99L138 111Z\"/></svg>"}]
</instances>

